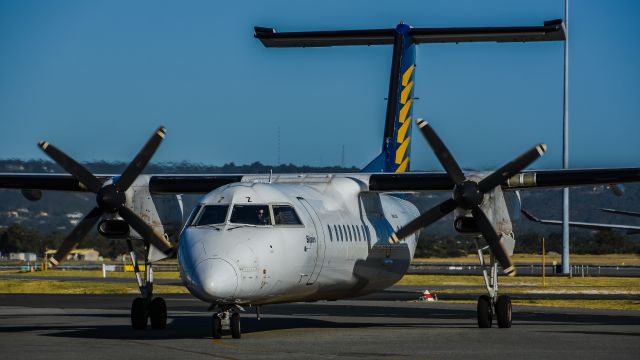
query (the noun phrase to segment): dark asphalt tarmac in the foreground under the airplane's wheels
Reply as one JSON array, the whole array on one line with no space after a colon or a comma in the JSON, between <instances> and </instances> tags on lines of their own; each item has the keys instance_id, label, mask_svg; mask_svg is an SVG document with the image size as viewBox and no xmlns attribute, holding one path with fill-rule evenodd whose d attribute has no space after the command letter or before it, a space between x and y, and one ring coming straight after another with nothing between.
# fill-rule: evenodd
<instances>
[{"instance_id":1,"label":"dark asphalt tarmac in the foreground under the airplane's wheels","mask_svg":"<svg viewBox=\"0 0 640 360\"><path fill-rule=\"evenodd\" d=\"M399 298L394 300L394 298ZM265 306L242 339L210 338L207 304L167 296L166 330L133 331L130 295L0 295L3 358L636 359L640 312L514 308L511 329L478 329L475 305L411 302L397 292Z\"/></svg>"}]
</instances>

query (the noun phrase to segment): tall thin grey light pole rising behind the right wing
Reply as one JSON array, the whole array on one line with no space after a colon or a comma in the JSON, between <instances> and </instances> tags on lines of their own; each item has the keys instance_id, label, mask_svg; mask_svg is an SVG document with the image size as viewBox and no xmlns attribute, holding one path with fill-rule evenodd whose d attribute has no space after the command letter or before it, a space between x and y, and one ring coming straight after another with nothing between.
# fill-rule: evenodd
<instances>
[{"instance_id":1,"label":"tall thin grey light pole rising behind the right wing","mask_svg":"<svg viewBox=\"0 0 640 360\"><path fill-rule=\"evenodd\" d=\"M569 0L564 1L564 102L562 116L562 168L569 168ZM569 188L562 189L562 273L569 274Z\"/></svg>"}]
</instances>

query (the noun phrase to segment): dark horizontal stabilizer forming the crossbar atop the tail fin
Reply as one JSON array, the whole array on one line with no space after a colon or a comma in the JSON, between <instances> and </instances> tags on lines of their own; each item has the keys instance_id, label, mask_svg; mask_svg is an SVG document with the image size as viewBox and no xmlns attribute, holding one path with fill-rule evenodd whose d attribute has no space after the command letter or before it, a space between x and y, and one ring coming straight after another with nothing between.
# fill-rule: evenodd
<instances>
[{"instance_id":1,"label":"dark horizontal stabilizer forming the crossbar atop the tail fin","mask_svg":"<svg viewBox=\"0 0 640 360\"><path fill-rule=\"evenodd\" d=\"M565 40L562 20L545 21L542 26L411 28L415 44L460 42L528 42ZM391 45L394 29L277 32L255 27L255 37L265 47L323 47L351 45Z\"/></svg>"}]
</instances>

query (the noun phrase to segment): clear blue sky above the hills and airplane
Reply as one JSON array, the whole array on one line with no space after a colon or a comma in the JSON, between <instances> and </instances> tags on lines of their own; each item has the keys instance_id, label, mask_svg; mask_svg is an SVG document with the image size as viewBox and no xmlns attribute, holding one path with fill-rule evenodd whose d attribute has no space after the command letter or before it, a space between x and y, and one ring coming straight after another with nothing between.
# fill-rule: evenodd
<instances>
[{"instance_id":1,"label":"clear blue sky above the hills and airplane","mask_svg":"<svg viewBox=\"0 0 640 360\"><path fill-rule=\"evenodd\" d=\"M398 5L401 4L401 5ZM573 0L571 167L640 166L640 3ZM391 47L266 49L281 31L540 25L563 1L0 1L0 158L364 166L378 152ZM421 45L414 117L466 168L539 142L561 166L563 44ZM439 169L416 132L413 169Z\"/></svg>"}]
</instances>

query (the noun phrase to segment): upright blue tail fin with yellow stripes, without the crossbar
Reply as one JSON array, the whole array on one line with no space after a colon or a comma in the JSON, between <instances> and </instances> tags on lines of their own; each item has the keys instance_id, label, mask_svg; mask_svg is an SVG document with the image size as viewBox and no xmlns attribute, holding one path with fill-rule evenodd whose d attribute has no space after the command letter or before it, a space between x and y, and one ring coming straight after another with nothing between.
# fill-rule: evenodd
<instances>
[{"instance_id":1,"label":"upright blue tail fin with yellow stripes, without the crossbar","mask_svg":"<svg viewBox=\"0 0 640 360\"><path fill-rule=\"evenodd\" d=\"M409 171L416 67L416 47L410 30L405 24L395 28L382 152L362 172Z\"/></svg>"}]
</instances>

